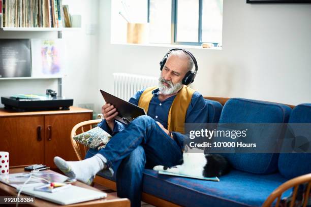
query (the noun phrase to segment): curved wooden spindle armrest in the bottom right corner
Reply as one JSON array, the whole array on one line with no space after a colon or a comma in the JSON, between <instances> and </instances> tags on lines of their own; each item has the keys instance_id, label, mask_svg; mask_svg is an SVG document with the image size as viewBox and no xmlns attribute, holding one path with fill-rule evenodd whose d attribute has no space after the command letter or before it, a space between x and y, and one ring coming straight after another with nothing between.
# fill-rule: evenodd
<instances>
[{"instance_id":1,"label":"curved wooden spindle armrest in the bottom right corner","mask_svg":"<svg viewBox=\"0 0 311 207\"><path fill-rule=\"evenodd\" d=\"M281 196L282 194L287 191L290 188L294 187L294 191L293 191L293 197L292 197L292 201L290 204L290 207L294 206L294 203L296 201L297 198L297 190L298 190L298 186L300 184L304 184L307 183L307 188L306 188L306 192L305 192L305 196L304 196L304 202L302 203L303 207L306 206L307 202L308 202L308 198L309 198L309 193L310 193L310 188L311 188L311 173L310 174L306 174L303 176L299 176L296 178L293 178L285 183L283 183L282 185L278 186L270 195L269 197L266 199L266 201L264 202L264 204L262 205L263 207L268 207L271 206L273 201L277 198L275 207L278 207L278 204L281 200Z\"/></svg>"}]
</instances>

